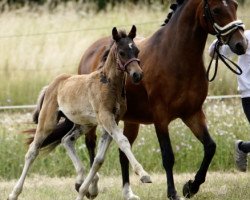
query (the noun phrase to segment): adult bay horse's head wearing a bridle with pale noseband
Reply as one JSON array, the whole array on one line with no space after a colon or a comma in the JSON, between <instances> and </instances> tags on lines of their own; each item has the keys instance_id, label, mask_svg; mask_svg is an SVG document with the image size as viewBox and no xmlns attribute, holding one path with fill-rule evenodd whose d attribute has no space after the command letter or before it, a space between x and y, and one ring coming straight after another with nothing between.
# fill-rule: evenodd
<instances>
[{"instance_id":1,"label":"adult bay horse's head wearing a bridle with pale noseband","mask_svg":"<svg viewBox=\"0 0 250 200\"><path fill-rule=\"evenodd\" d=\"M235 0L203 0L203 25L208 32L217 35L237 55L244 54L248 41L244 36L244 24L237 20L238 4Z\"/></svg>"}]
</instances>

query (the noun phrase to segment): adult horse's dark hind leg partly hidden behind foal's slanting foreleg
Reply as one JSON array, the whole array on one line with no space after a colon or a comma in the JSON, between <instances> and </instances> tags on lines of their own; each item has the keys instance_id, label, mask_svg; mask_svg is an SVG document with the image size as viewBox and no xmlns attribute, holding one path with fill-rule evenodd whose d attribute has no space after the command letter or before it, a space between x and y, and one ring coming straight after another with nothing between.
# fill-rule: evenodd
<instances>
[{"instance_id":1,"label":"adult horse's dark hind leg partly hidden behind foal's slanting foreleg","mask_svg":"<svg viewBox=\"0 0 250 200\"><path fill-rule=\"evenodd\" d=\"M93 165L94 158L95 158L96 126L93 127L91 130L89 130L88 133L86 133L85 144L89 153L89 160L90 160L90 167L91 167ZM99 181L99 174L96 173L95 177L93 178L89 186L89 193L86 194L86 196L89 199L94 199L98 195L98 181Z\"/></svg>"}]
</instances>

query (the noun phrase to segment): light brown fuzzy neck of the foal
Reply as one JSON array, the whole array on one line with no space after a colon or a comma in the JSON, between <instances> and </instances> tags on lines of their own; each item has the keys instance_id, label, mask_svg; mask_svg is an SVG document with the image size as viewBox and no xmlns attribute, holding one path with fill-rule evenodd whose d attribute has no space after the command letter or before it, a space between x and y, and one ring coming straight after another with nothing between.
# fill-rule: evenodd
<instances>
[{"instance_id":1,"label":"light brown fuzzy neck of the foal","mask_svg":"<svg viewBox=\"0 0 250 200\"><path fill-rule=\"evenodd\" d=\"M107 60L104 64L103 73L113 83L122 82L121 80L125 77L125 73L117 69L116 48L114 45L111 47Z\"/></svg>"}]
</instances>

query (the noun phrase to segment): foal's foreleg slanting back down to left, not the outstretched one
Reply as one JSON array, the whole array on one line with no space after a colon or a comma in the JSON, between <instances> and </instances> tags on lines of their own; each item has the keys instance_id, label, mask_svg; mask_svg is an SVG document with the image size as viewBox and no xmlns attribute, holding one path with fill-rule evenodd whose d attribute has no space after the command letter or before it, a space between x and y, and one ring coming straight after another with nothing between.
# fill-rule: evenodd
<instances>
[{"instance_id":1,"label":"foal's foreleg slanting back down to left, not the outstretched one","mask_svg":"<svg viewBox=\"0 0 250 200\"><path fill-rule=\"evenodd\" d=\"M96 157L94 159L93 165L92 165L85 181L83 182L83 184L81 185L81 187L79 189L79 194L78 194L77 200L82 200L83 197L88 192L88 188L91 184L91 181L93 180L97 171L100 169L100 167L102 166L102 164L104 162L105 154L107 152L107 149L108 149L111 141L112 141L112 137L106 131L103 131L103 135L100 138L100 141L98 144L98 151L97 151Z\"/></svg>"}]
</instances>

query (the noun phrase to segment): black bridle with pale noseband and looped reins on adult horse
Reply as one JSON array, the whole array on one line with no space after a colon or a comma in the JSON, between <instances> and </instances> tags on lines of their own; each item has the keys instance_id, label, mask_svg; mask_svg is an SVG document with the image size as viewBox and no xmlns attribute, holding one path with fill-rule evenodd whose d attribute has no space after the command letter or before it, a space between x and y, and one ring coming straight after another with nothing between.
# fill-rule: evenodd
<instances>
[{"instance_id":1,"label":"black bridle with pale noseband and looped reins on adult horse","mask_svg":"<svg viewBox=\"0 0 250 200\"><path fill-rule=\"evenodd\" d=\"M245 29L244 23L241 20L235 20L235 21L232 21L232 22L228 23L227 25L221 27L214 20L210 6L208 4L208 0L204 0L204 1L205 1L204 16L206 17L206 20L212 25L214 31L216 32L216 37L217 37L217 42L216 42L215 47L214 47L214 53L212 55L211 61L208 65L208 69L207 69L207 79L209 82L211 82L215 79L216 74L217 74L217 70L218 70L219 58L233 73L235 73L237 75L241 75L242 69L235 62L228 59L226 56L222 55L220 53L219 49L223 44L228 44L228 42L231 39L230 34L232 34L233 32L235 32L238 29L243 29L243 30ZM222 36L229 36L229 39L226 42L224 42L222 39ZM215 55L215 53L216 53L216 55ZM210 72L212 61L214 60L214 58L215 58L215 70L214 70L213 77L210 79L209 72ZM233 69L228 62L231 63L232 65L234 65L236 67L236 70Z\"/></svg>"}]
</instances>

